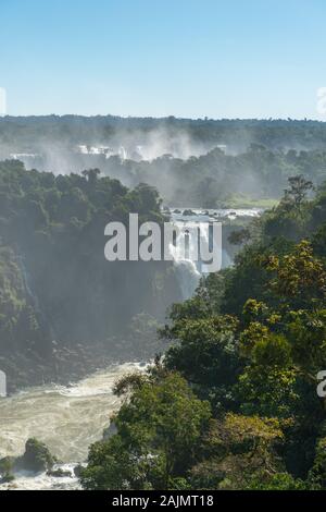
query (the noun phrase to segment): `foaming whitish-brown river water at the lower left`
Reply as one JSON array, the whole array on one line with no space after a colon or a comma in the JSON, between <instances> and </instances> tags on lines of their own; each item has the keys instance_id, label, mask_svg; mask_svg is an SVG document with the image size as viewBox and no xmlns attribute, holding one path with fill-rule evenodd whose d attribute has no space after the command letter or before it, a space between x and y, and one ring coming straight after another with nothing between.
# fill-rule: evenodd
<instances>
[{"instance_id":1,"label":"foaming whitish-brown river water at the lower left","mask_svg":"<svg viewBox=\"0 0 326 512\"><path fill-rule=\"evenodd\" d=\"M72 470L84 462L91 443L100 440L110 416L121 401L113 395L114 382L140 369L137 364L116 365L98 371L71 387L27 389L0 399L0 458L21 455L30 437L43 441L51 453ZM77 478L21 473L10 487L18 489L76 488ZM0 490L8 485L0 486Z\"/></svg>"}]
</instances>

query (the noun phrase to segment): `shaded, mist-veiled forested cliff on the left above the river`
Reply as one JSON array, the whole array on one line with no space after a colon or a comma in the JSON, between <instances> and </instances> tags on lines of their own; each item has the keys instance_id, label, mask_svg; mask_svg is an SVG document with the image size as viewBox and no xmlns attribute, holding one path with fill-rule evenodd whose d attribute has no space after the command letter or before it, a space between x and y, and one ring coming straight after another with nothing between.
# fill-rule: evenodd
<instances>
[{"instance_id":1,"label":"shaded, mist-veiled forested cliff on the left above the river","mask_svg":"<svg viewBox=\"0 0 326 512\"><path fill-rule=\"evenodd\" d=\"M181 297L171 263L104 259L108 222L163 217L155 190L98 173L0 163L0 362L11 386L55 379L61 364L68 374L68 349L88 351L84 371L97 343L113 359L148 357L158 320Z\"/></svg>"}]
</instances>

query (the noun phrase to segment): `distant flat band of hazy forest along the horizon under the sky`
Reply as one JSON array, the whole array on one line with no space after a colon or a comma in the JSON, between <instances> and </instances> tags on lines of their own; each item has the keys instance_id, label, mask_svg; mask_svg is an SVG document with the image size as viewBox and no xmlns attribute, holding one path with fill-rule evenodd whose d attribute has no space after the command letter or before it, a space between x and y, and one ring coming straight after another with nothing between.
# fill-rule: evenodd
<instances>
[{"instance_id":1,"label":"distant flat band of hazy forest along the horizon under the sky","mask_svg":"<svg viewBox=\"0 0 326 512\"><path fill-rule=\"evenodd\" d=\"M170 118L120 118L114 115L43 115L10 117L0 119L1 145L30 149L38 142L68 144L104 144L114 136L125 141L135 137L142 143L143 136L154 131L166 131L173 138L187 134L190 141L230 145L244 150L251 143L269 149L322 149L326 143L326 125L319 121L256 120L256 119L177 119ZM121 142L123 144L123 142Z\"/></svg>"}]
</instances>

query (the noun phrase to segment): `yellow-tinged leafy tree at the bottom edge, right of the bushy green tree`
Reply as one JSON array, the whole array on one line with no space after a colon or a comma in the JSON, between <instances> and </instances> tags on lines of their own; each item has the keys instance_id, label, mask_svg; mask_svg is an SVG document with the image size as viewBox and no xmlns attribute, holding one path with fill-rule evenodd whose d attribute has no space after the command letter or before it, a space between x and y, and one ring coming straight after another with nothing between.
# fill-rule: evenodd
<instances>
[{"instance_id":1,"label":"yellow-tinged leafy tree at the bottom edge, right of the bushy green tree","mask_svg":"<svg viewBox=\"0 0 326 512\"><path fill-rule=\"evenodd\" d=\"M197 488L241 489L254 476L281 468L276 447L284 441L277 419L227 413L212 420L205 436L205 460L190 472Z\"/></svg>"}]
</instances>

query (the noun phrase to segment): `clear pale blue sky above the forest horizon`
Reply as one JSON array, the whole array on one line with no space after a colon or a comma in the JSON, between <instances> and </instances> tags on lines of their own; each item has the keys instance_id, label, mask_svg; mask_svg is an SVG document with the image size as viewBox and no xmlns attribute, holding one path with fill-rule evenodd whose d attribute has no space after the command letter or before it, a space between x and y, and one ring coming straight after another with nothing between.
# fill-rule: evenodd
<instances>
[{"instance_id":1,"label":"clear pale blue sky above the forest horizon","mask_svg":"<svg viewBox=\"0 0 326 512\"><path fill-rule=\"evenodd\" d=\"M325 0L0 0L8 113L316 119Z\"/></svg>"}]
</instances>

